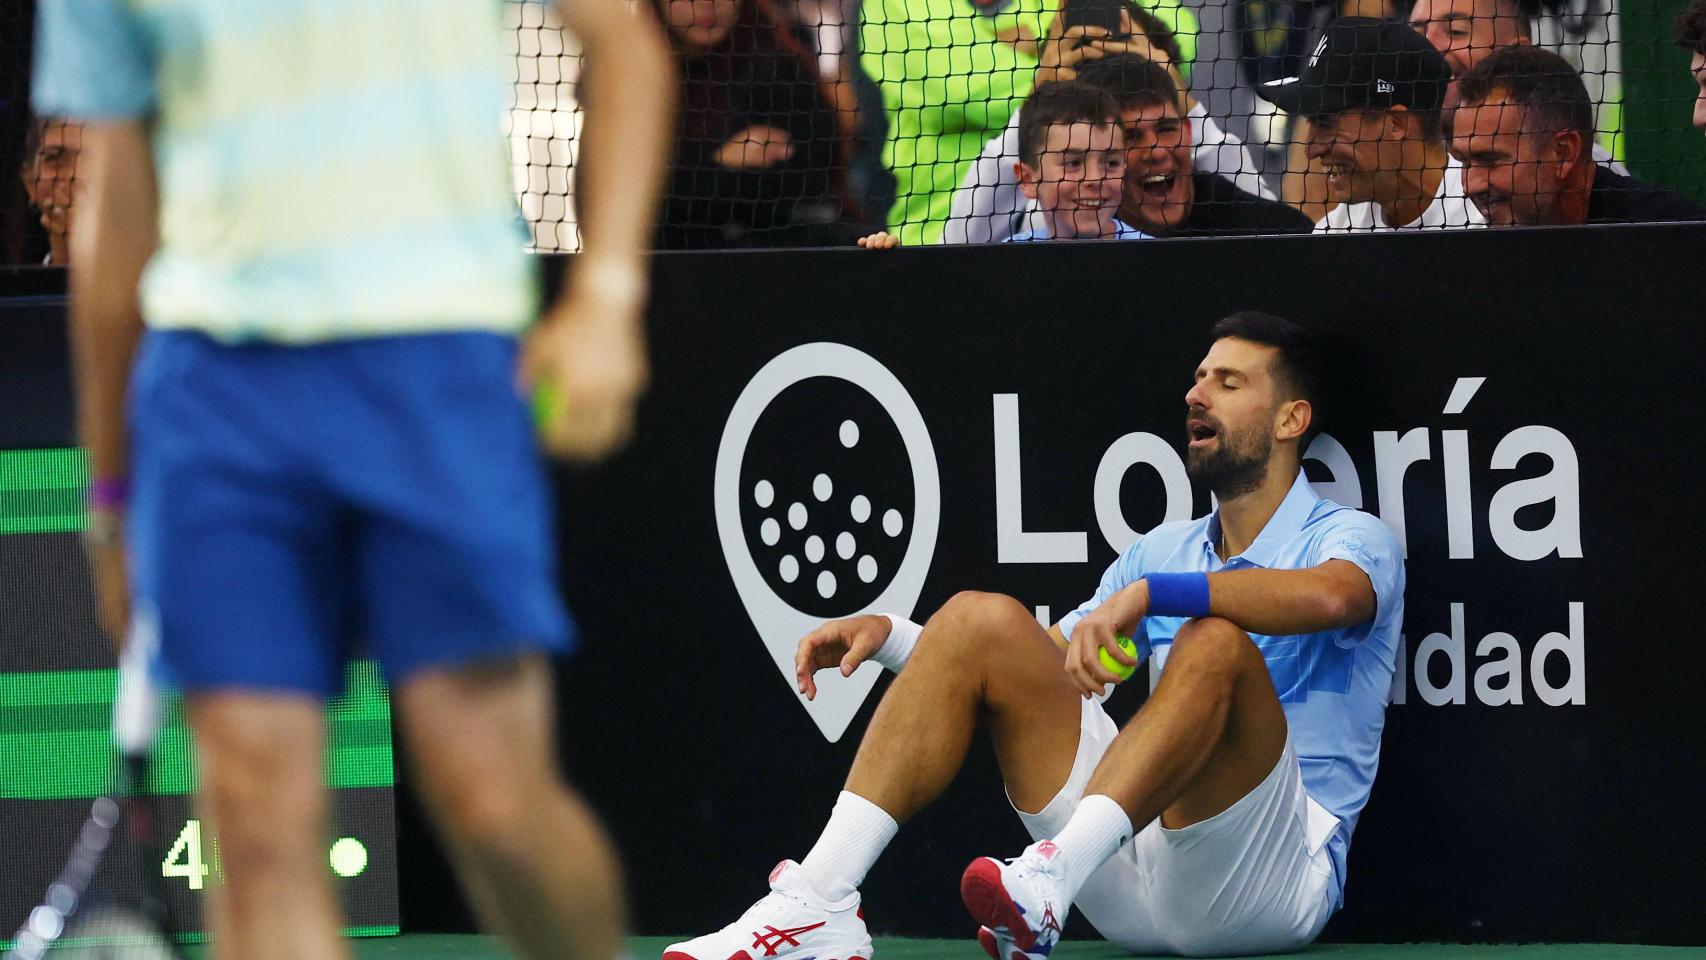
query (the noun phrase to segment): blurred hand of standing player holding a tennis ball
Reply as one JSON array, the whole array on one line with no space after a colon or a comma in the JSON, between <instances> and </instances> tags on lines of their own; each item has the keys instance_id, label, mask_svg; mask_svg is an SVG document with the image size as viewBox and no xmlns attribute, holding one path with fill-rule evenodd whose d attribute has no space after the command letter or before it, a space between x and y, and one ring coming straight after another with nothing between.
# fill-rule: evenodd
<instances>
[{"instance_id":1,"label":"blurred hand of standing player holding a tennis ball","mask_svg":"<svg viewBox=\"0 0 1706 960\"><path fill-rule=\"evenodd\" d=\"M544 385L539 440L553 457L595 462L633 433L635 406L650 382L643 292L570 290L522 344L520 385Z\"/></svg>"}]
</instances>

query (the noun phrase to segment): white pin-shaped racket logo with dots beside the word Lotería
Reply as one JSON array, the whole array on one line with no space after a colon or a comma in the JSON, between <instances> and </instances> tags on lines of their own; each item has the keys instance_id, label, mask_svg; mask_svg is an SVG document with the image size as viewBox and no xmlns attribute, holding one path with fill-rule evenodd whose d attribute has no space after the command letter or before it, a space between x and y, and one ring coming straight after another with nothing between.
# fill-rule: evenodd
<instances>
[{"instance_id":1,"label":"white pin-shaped racket logo with dots beside the word Loter\u00eda","mask_svg":"<svg viewBox=\"0 0 1706 960\"><path fill-rule=\"evenodd\" d=\"M940 479L918 406L870 355L809 343L759 368L723 426L713 501L735 590L790 689L798 641L824 619L913 614ZM800 699L826 738L841 737L877 670L824 672L817 699Z\"/></svg>"}]
</instances>

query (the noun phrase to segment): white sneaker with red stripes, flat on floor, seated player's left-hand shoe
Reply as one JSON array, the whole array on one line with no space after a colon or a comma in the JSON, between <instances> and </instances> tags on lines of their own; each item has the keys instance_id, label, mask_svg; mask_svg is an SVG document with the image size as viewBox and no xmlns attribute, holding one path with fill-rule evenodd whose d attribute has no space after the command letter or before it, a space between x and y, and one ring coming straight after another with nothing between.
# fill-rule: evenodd
<instances>
[{"instance_id":1,"label":"white sneaker with red stripes, flat on floor, seated player's left-hand shoe","mask_svg":"<svg viewBox=\"0 0 1706 960\"><path fill-rule=\"evenodd\" d=\"M662 960L870 960L870 933L855 890L827 902L798 863L769 871L769 893L717 933L664 948Z\"/></svg>"}]
</instances>

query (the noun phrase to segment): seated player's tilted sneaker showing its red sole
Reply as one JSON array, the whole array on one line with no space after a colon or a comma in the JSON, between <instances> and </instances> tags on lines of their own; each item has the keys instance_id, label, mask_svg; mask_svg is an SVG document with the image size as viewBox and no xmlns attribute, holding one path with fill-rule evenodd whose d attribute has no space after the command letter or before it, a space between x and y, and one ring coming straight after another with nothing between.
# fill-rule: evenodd
<instances>
[{"instance_id":1,"label":"seated player's tilted sneaker showing its red sole","mask_svg":"<svg viewBox=\"0 0 1706 960\"><path fill-rule=\"evenodd\" d=\"M983 924L978 943L995 960L1042 960L1059 943L1071 902L1058 853L1042 841L1007 863L981 856L960 876L960 899Z\"/></svg>"}]
</instances>

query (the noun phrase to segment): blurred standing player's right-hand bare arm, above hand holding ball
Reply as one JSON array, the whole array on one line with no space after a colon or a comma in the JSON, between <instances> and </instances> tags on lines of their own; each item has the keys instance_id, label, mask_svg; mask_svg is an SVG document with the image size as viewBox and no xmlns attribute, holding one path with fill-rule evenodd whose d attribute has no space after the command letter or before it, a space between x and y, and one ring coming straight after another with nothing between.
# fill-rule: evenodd
<instances>
[{"instance_id":1,"label":"blurred standing player's right-hand bare arm, above hand holding ball","mask_svg":"<svg viewBox=\"0 0 1706 960\"><path fill-rule=\"evenodd\" d=\"M587 65L577 283L638 286L674 140L674 61L648 5L628 14L624 3L572 0L565 22Z\"/></svg>"}]
</instances>

